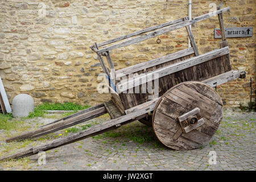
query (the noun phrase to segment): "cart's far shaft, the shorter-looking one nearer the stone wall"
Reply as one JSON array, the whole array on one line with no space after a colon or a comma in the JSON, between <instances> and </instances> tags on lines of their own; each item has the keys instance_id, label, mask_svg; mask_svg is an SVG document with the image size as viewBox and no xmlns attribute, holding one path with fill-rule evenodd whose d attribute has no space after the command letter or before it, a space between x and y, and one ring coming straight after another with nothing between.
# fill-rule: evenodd
<instances>
[{"instance_id":1,"label":"cart's far shaft, the shorter-looking one nearer the stone wall","mask_svg":"<svg viewBox=\"0 0 256 182\"><path fill-rule=\"evenodd\" d=\"M96 118L105 113L106 113L105 106L100 107L98 109L89 111L87 113L77 115L76 117L69 118L66 120L61 120L59 122L52 123L51 125L40 127L39 129L36 129L34 131L28 131L27 133L6 139L6 142L12 142L14 140L22 140L22 139L30 138L33 135L36 135L37 137L39 137L40 135L45 135L49 131L50 131L50 133L52 133L53 131L58 131L58 130L61 130L61 129L64 129L64 128L67 128L67 127L70 127L73 125L77 125L78 123L88 121L90 119ZM41 134L41 133L43 133L43 134Z\"/></svg>"}]
</instances>

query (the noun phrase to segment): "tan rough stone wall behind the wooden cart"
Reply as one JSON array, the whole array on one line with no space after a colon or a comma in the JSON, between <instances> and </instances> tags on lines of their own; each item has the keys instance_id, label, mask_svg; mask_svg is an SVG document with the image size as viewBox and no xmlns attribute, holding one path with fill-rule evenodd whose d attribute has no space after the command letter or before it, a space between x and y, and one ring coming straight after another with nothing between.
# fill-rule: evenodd
<instances>
[{"instance_id":1,"label":"tan rough stone wall behind the wooden cart","mask_svg":"<svg viewBox=\"0 0 256 182\"><path fill-rule=\"evenodd\" d=\"M209 13L209 3L192 0L192 16ZM227 0L225 27L253 26L255 1ZM19 93L28 93L36 104L77 102L95 105L109 100L97 92L97 75L102 72L89 46L142 28L187 16L188 1L98 0L98 1L0 1L0 75L10 102ZM214 39L218 18L192 26L200 53L218 48ZM137 46L112 51L115 68L124 68L188 47L185 28L146 40ZM255 90L255 34L250 38L228 38L233 69L247 72L218 87L226 106L247 105L249 78ZM254 91L255 92L255 91ZM253 98L255 95L253 96Z\"/></svg>"}]
</instances>

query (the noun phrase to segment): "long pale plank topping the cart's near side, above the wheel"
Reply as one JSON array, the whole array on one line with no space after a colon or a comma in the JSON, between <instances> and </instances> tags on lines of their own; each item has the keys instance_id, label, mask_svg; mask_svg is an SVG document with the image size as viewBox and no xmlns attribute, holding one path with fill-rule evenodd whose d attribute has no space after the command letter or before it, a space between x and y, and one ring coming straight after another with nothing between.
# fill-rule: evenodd
<instances>
[{"instance_id":1,"label":"long pale plank topping the cart's near side, above the wheel","mask_svg":"<svg viewBox=\"0 0 256 182\"><path fill-rule=\"evenodd\" d=\"M134 87L134 86L143 84L144 83L143 80L146 80L147 82L154 80L154 74L158 74L158 77L160 78L160 77L163 77L166 75L170 75L171 73L175 73L175 72L181 71L183 69L192 67L194 65L204 63L205 61L214 59L216 57L226 55L228 53L229 53L229 47L216 49L216 50L204 53L202 55L192 57L191 59L184 60L179 63L169 65L168 67L157 69L152 72L148 72L146 75L143 75L141 77L132 78L127 81L119 82L117 84L118 93L121 93L124 90L130 89L128 86Z\"/></svg>"}]
</instances>

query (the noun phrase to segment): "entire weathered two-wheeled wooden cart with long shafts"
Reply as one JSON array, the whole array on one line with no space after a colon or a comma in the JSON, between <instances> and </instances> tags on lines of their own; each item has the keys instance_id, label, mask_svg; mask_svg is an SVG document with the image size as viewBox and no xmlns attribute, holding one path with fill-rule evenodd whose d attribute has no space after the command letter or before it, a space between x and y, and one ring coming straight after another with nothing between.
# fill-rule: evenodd
<instances>
[{"instance_id":1,"label":"entire weathered two-wheeled wooden cart with long shafts","mask_svg":"<svg viewBox=\"0 0 256 182\"><path fill-rule=\"evenodd\" d=\"M216 132L222 119L223 103L213 88L236 78L245 77L244 71L234 71L230 64L229 47L222 19L222 13L229 9L229 7L218 9L191 20L178 19L104 43L94 43L90 48L97 53L109 80L108 88L112 100L58 119L37 130L9 138L6 142L46 135L105 113L109 113L110 121L2 159L34 155L39 151L51 150L116 129L138 119L147 125L151 123L156 137L167 147L175 150L191 150L202 146ZM222 42L219 49L200 55L189 25L213 15L218 15ZM142 42L182 27L187 29L191 48L115 71L110 57L111 50ZM124 41L112 44L120 40ZM108 44L112 45L99 49ZM104 56L109 68L104 62ZM129 76L131 74L132 77ZM148 89L151 92L146 92Z\"/></svg>"}]
</instances>

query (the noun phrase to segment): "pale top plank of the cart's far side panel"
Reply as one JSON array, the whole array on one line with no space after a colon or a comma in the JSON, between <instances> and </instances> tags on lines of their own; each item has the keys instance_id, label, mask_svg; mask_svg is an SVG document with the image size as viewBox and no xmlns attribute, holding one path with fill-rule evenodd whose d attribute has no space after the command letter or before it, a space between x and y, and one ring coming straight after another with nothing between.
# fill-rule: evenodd
<instances>
[{"instance_id":1,"label":"pale top plank of the cart's far side panel","mask_svg":"<svg viewBox=\"0 0 256 182\"><path fill-rule=\"evenodd\" d=\"M142 69L154 67L156 65L163 64L163 63L178 59L183 56L191 55L192 53L194 53L194 51L193 51L193 48L191 47L188 49L184 49L182 51L171 53L170 55L159 57L159 58L156 58L156 59L153 59L150 61L146 61L144 63L136 64L136 65L133 65L128 68L119 69L115 72L116 79L118 79L122 76L128 75L130 73L135 73L135 72L141 71Z\"/></svg>"}]
</instances>

